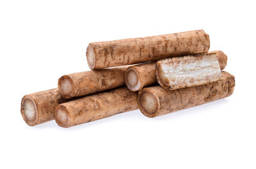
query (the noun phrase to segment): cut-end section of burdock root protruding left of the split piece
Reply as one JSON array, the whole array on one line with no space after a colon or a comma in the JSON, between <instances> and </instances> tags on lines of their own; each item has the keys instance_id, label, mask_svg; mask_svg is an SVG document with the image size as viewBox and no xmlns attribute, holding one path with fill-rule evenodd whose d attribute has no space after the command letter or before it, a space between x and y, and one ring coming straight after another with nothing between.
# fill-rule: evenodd
<instances>
[{"instance_id":1,"label":"cut-end section of burdock root protruding left of the split piece","mask_svg":"<svg viewBox=\"0 0 256 169\"><path fill-rule=\"evenodd\" d=\"M125 84L130 91L156 84L156 62L131 66L125 71Z\"/></svg>"}]
</instances>

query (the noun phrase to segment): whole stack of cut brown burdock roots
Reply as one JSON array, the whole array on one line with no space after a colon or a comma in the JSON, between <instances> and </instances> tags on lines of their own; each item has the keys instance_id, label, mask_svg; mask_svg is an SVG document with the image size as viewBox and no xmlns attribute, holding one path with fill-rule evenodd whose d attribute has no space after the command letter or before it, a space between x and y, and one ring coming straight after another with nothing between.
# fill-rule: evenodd
<instances>
[{"instance_id":1,"label":"whole stack of cut brown burdock roots","mask_svg":"<svg viewBox=\"0 0 256 169\"><path fill-rule=\"evenodd\" d=\"M203 30L90 43L92 71L64 75L58 89L24 96L22 117L29 126L55 118L68 128L138 108L156 117L225 98L235 79L221 71L227 55L209 47Z\"/></svg>"}]
</instances>

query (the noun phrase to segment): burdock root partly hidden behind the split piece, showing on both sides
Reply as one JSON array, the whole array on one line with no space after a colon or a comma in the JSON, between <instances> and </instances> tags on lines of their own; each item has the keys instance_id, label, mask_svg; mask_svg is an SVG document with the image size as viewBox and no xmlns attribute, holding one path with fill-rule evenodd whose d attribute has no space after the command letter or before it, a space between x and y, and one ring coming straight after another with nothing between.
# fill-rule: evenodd
<instances>
[{"instance_id":1,"label":"burdock root partly hidden behind the split piece, showing on both sides","mask_svg":"<svg viewBox=\"0 0 256 169\"><path fill-rule=\"evenodd\" d=\"M218 61L220 63L221 70L227 65L227 55L225 55L220 50L208 52L207 54L216 54ZM137 82L135 85L129 82L127 79L127 75L130 71L134 71L134 75L136 75L134 82ZM138 64L135 66L129 67L125 71L125 84L130 91L140 91L143 87L147 87L150 85L154 85L157 83L156 78L156 62L145 63L145 64ZM132 85L130 85L132 84Z\"/></svg>"}]
</instances>

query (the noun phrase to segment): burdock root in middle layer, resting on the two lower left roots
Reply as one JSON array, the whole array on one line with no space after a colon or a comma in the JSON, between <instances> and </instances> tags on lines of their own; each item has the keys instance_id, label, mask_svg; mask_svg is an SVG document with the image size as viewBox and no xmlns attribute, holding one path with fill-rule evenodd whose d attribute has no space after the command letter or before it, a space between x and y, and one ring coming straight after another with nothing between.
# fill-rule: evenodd
<instances>
[{"instance_id":1,"label":"burdock root in middle layer, resting on the two lower left roots","mask_svg":"<svg viewBox=\"0 0 256 169\"><path fill-rule=\"evenodd\" d=\"M61 97L73 98L125 85L124 74L129 66L105 70L84 71L64 75L58 80Z\"/></svg>"}]
</instances>

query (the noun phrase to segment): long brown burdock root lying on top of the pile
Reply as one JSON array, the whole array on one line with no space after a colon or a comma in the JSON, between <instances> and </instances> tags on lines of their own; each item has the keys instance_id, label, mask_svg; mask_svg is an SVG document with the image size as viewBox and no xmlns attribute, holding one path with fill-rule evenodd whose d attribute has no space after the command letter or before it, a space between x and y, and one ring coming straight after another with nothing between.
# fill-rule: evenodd
<instances>
[{"instance_id":1,"label":"long brown burdock root lying on top of the pile","mask_svg":"<svg viewBox=\"0 0 256 169\"><path fill-rule=\"evenodd\" d=\"M157 61L167 57L208 52L209 35L204 30L145 38L90 43L86 56L91 70Z\"/></svg>"}]
</instances>

